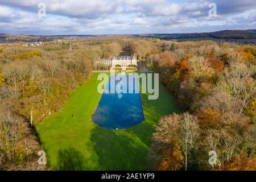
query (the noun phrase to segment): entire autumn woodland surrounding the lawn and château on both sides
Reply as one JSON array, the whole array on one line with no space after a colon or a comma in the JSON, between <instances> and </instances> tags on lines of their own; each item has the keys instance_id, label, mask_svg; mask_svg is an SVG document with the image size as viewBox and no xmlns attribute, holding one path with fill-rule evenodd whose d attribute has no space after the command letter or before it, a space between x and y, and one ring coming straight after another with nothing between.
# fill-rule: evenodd
<instances>
[{"instance_id":1,"label":"entire autumn woodland surrounding the lawn and ch\u00e2teau on both sides","mask_svg":"<svg viewBox=\"0 0 256 182\"><path fill-rule=\"evenodd\" d=\"M95 59L136 53L184 110L159 120L148 154L152 169L255 170L255 47L129 36L62 40L0 45L0 169L48 169L36 162L34 126L90 78ZM218 156L214 168L209 151Z\"/></svg>"}]
</instances>

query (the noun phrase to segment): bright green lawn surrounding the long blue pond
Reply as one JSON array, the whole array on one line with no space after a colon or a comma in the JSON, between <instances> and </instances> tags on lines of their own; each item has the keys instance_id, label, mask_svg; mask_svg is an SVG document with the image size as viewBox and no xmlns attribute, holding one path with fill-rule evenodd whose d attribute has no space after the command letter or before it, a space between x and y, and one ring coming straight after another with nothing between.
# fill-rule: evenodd
<instances>
[{"instance_id":1,"label":"bright green lawn surrounding the long blue pond","mask_svg":"<svg viewBox=\"0 0 256 182\"><path fill-rule=\"evenodd\" d=\"M57 170L148 169L154 125L162 115L179 111L174 96L160 85L158 100L141 94L144 122L125 130L104 129L91 121L101 97L97 74L72 92L61 112L36 126L48 165Z\"/></svg>"}]
</instances>

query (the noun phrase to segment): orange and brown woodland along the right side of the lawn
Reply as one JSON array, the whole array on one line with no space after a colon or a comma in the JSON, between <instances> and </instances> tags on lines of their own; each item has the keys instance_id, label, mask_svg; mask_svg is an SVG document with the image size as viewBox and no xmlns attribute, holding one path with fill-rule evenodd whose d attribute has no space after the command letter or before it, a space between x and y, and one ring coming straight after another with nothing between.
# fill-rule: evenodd
<instances>
[{"instance_id":1,"label":"orange and brown woodland along the right side of the lawn","mask_svg":"<svg viewBox=\"0 0 256 182\"><path fill-rule=\"evenodd\" d=\"M183 114L163 117L151 159L162 170L255 170L255 47L183 42L160 53L154 71L174 92Z\"/></svg>"}]
</instances>

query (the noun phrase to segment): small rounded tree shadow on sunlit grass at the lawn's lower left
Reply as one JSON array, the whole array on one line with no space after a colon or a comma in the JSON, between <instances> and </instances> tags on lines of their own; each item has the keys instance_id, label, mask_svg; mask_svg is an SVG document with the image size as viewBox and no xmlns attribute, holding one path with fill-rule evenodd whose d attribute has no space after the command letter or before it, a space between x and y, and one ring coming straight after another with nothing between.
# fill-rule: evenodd
<instances>
[{"instance_id":1,"label":"small rounded tree shadow on sunlit grass at the lawn's lower left","mask_svg":"<svg viewBox=\"0 0 256 182\"><path fill-rule=\"evenodd\" d=\"M75 150L75 148L59 150L57 164L57 170L80 171L83 169L84 157L79 151Z\"/></svg>"}]
</instances>

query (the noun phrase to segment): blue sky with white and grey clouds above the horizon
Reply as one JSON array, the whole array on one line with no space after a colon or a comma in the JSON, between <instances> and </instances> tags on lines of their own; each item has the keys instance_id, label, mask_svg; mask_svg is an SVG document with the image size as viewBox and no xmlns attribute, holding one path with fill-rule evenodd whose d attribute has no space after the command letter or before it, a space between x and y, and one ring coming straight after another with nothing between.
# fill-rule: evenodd
<instances>
[{"instance_id":1,"label":"blue sky with white and grey clouds above the horizon","mask_svg":"<svg viewBox=\"0 0 256 182\"><path fill-rule=\"evenodd\" d=\"M216 16L209 16L211 3L216 5ZM0 0L0 33L7 34L173 34L247 29L256 29L256 0Z\"/></svg>"}]
</instances>

